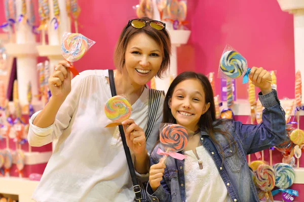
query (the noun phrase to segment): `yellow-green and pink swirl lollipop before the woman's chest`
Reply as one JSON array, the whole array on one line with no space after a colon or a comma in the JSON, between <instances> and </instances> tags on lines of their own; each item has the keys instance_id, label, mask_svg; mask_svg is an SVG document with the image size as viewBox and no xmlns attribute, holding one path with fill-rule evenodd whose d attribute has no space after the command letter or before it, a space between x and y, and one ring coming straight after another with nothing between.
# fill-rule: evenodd
<instances>
[{"instance_id":1,"label":"yellow-green and pink swirl lollipop before the woman's chest","mask_svg":"<svg viewBox=\"0 0 304 202\"><path fill-rule=\"evenodd\" d=\"M128 100L120 95L109 98L104 106L104 113L112 123L105 127L115 127L121 125L124 120L127 120L131 115L131 104Z\"/></svg>"}]
</instances>

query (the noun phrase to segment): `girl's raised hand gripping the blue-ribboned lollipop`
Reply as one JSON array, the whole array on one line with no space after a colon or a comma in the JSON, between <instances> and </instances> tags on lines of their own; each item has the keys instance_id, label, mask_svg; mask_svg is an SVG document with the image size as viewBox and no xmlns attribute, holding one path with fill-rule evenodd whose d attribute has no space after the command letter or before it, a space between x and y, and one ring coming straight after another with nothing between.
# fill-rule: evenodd
<instances>
[{"instance_id":1,"label":"girl's raised hand gripping the blue-ribboned lollipop","mask_svg":"<svg viewBox=\"0 0 304 202\"><path fill-rule=\"evenodd\" d=\"M267 70L264 70L263 68L256 68L254 66L251 68L249 78L252 81L252 84L254 84L256 87L259 87L262 94L267 94L272 91L271 83L268 82L272 81L272 79L270 73Z\"/></svg>"}]
</instances>

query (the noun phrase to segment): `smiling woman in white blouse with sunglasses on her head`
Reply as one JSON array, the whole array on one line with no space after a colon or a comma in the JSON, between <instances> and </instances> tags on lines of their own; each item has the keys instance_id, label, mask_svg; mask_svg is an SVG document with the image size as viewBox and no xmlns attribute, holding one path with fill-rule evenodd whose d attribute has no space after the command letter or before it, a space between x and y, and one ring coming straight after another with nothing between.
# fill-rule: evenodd
<instances>
[{"instance_id":1,"label":"smiling woman in white blouse with sunglasses on her head","mask_svg":"<svg viewBox=\"0 0 304 202\"><path fill-rule=\"evenodd\" d=\"M147 151L155 145L158 131L147 129L151 124L157 127L162 121L164 102L163 92L150 96L146 83L154 76L163 75L169 66L170 54L165 24L149 18L129 20L115 50L116 91L127 95L132 105L131 119L123 125L129 125L125 130L126 141L138 175L148 173ZM32 198L36 201L133 201L135 189L133 191L120 130L104 127L110 122L103 112L111 97L108 70L84 71L72 81L69 72L68 62L59 62L49 79L52 92L49 103L30 119L28 142L31 146L58 140ZM151 103L156 103L159 110L149 112L154 118L148 121Z\"/></svg>"}]
</instances>

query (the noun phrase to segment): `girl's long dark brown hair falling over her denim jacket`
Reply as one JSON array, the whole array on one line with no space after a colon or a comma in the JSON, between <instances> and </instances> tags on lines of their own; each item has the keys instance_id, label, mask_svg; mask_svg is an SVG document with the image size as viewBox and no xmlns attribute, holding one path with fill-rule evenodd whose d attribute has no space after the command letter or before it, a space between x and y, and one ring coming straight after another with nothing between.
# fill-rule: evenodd
<instances>
[{"instance_id":1,"label":"girl's long dark brown hair falling over her denim jacket","mask_svg":"<svg viewBox=\"0 0 304 202\"><path fill-rule=\"evenodd\" d=\"M221 133L229 141L229 143L231 143L233 141L231 134L227 131L221 130L218 127L216 127L222 124L223 122L227 121L227 119L217 119L217 121L215 122L216 117L215 117L215 105L214 105L214 95L213 95L212 86L208 78L202 74L198 74L195 72L183 72L172 81L168 89L168 92L166 94L166 98L164 102L163 123L176 123L176 120L171 113L171 109L169 108L169 100L172 97L175 87L180 82L188 79L197 79L201 82L202 87L205 91L205 103L206 104L210 103L209 109L205 114L201 115L201 118L199 120L198 125L200 130L206 131L209 134L209 137L211 138L212 142L217 144L220 148L221 148L220 144L218 143L218 141L216 141L214 137L214 133L216 132ZM158 143L159 141L157 141L157 144Z\"/></svg>"}]
</instances>

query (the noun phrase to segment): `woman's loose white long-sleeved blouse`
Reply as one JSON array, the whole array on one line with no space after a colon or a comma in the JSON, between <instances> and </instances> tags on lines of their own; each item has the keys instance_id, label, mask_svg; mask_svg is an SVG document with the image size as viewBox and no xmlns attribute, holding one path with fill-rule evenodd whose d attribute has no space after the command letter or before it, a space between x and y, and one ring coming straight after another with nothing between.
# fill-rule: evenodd
<instances>
[{"instance_id":1,"label":"woman's loose white long-sleeved blouse","mask_svg":"<svg viewBox=\"0 0 304 202\"><path fill-rule=\"evenodd\" d=\"M104 105L111 97L107 70L89 70L72 79L71 92L48 128L32 124L28 141L42 146L58 139L42 179L32 198L35 201L133 201L135 194L118 127L105 128L111 121ZM147 140L150 152L162 121L164 97L157 124ZM131 117L145 131L148 88L132 105ZM134 154L131 151L134 163Z\"/></svg>"}]
</instances>

